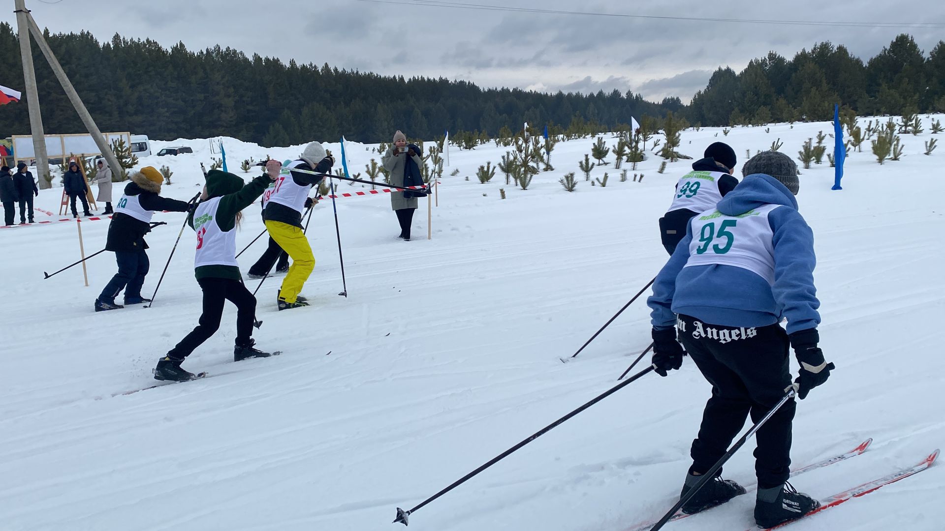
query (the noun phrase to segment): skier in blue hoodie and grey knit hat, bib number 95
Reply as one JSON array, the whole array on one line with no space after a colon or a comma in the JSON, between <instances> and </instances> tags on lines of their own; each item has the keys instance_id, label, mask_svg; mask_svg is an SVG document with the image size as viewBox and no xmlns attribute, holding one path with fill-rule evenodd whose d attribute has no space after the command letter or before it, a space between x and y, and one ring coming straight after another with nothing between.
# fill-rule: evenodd
<instances>
[{"instance_id":1,"label":"skier in blue hoodie and grey knit hat, bib number 95","mask_svg":"<svg viewBox=\"0 0 945 531\"><path fill-rule=\"evenodd\" d=\"M814 233L794 197L798 167L782 153L765 151L742 171L745 179L730 194L690 220L647 300L656 371L665 376L688 353L713 386L682 495L726 453L749 414L761 420L792 386L803 400L833 369L817 348ZM800 364L793 384L791 347ZM756 434L754 516L762 527L818 506L787 483L796 408L794 400L784 404ZM745 492L716 475L682 511L695 513Z\"/></svg>"}]
</instances>

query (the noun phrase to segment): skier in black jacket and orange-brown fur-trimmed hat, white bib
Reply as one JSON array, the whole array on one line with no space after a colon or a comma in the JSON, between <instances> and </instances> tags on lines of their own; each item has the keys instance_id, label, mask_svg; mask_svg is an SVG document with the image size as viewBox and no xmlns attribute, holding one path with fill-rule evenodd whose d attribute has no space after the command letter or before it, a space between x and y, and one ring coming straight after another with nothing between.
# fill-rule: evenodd
<instances>
[{"instance_id":1,"label":"skier in black jacket and orange-brown fur-trimmed hat, white bib","mask_svg":"<svg viewBox=\"0 0 945 531\"><path fill-rule=\"evenodd\" d=\"M150 302L141 296L141 286L150 268L145 234L151 231L151 216L154 211L187 212L189 208L184 201L158 195L163 181L161 172L153 166L145 166L131 176L125 195L118 199L105 243L105 250L115 253L118 272L95 299L96 312L124 308L115 304L115 297L123 289L126 304Z\"/></svg>"}]
</instances>

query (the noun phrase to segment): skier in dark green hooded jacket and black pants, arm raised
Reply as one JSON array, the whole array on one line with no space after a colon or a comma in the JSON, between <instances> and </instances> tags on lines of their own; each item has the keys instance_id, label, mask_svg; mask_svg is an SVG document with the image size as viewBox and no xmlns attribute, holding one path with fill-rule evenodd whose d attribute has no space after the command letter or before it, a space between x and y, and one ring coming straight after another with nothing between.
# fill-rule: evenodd
<instances>
[{"instance_id":1,"label":"skier in dark green hooded jacket and black pants, arm raised","mask_svg":"<svg viewBox=\"0 0 945 531\"><path fill-rule=\"evenodd\" d=\"M203 313L190 334L158 362L155 380L183 382L192 380L192 372L180 368L183 360L209 339L220 327L223 304L236 305L236 345L233 361L266 358L269 352L253 348L252 322L256 315L256 298L249 293L236 262L236 227L242 211L260 197L266 186L279 177L279 166L266 166L266 174L243 185L243 180L220 170L207 173L197 208L188 215L187 224L197 232L194 255L195 275L203 291Z\"/></svg>"}]
</instances>

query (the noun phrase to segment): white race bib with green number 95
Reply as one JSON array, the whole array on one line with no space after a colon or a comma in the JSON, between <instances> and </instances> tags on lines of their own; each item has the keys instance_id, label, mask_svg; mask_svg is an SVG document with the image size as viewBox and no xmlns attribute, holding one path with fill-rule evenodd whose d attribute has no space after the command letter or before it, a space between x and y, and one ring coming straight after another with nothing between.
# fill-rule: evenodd
<instances>
[{"instance_id":1,"label":"white race bib with green number 95","mask_svg":"<svg viewBox=\"0 0 945 531\"><path fill-rule=\"evenodd\" d=\"M741 267L774 285L774 231L768 214L780 206L768 204L739 215L725 215L714 208L696 214L686 267Z\"/></svg>"}]
</instances>

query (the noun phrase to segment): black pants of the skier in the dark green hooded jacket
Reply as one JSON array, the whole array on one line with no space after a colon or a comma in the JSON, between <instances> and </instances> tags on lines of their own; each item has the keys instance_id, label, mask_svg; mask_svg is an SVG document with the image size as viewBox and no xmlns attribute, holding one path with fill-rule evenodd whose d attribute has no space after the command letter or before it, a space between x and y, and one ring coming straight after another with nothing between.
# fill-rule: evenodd
<instances>
[{"instance_id":1,"label":"black pants of the skier in the dark green hooded jacket","mask_svg":"<svg viewBox=\"0 0 945 531\"><path fill-rule=\"evenodd\" d=\"M223 303L226 300L236 305L236 345L248 346L252 338L252 321L256 316L256 298L240 281L232 279L200 279L203 290L203 314L199 324L187 334L167 356L183 359L195 351L220 328Z\"/></svg>"}]
</instances>

